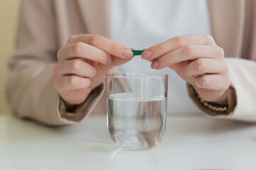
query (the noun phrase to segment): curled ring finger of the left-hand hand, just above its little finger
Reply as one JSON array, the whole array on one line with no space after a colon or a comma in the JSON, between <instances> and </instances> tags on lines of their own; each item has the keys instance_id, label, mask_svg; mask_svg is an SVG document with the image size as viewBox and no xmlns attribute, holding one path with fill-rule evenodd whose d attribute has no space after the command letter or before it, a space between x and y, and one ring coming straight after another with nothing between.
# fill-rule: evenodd
<instances>
[{"instance_id":1,"label":"curled ring finger of the left-hand hand, just above its little finger","mask_svg":"<svg viewBox=\"0 0 256 170\"><path fill-rule=\"evenodd\" d=\"M84 62L79 59L66 60L62 62L57 71L58 74L62 76L75 74L79 77L95 77L96 69L92 67L87 62Z\"/></svg>"}]
</instances>

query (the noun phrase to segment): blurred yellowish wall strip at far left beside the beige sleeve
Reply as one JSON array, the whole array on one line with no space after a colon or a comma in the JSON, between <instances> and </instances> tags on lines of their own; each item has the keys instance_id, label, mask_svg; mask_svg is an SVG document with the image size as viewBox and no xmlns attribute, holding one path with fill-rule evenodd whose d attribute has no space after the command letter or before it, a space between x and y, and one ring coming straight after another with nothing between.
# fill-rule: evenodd
<instances>
[{"instance_id":1,"label":"blurred yellowish wall strip at far left beside the beige sleeve","mask_svg":"<svg viewBox=\"0 0 256 170\"><path fill-rule=\"evenodd\" d=\"M0 114L10 113L5 86L8 77L7 60L15 50L15 36L20 1L0 1Z\"/></svg>"}]
</instances>

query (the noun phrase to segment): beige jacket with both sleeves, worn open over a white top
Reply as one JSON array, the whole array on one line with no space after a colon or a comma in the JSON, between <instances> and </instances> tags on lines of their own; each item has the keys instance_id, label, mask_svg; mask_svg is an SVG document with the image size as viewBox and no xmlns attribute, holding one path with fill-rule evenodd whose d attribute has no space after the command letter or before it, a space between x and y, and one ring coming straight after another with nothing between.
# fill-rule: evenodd
<instances>
[{"instance_id":1,"label":"beige jacket with both sleeves, worn open over a white top","mask_svg":"<svg viewBox=\"0 0 256 170\"><path fill-rule=\"evenodd\" d=\"M110 4L110 0L23 0L17 52L9 60L8 97L16 115L48 125L65 125L78 123L90 113L105 114L104 84L74 113L67 113L53 87L53 65L58 49L70 35L111 38ZM198 102L191 86L188 94L210 117L256 122L256 1L208 0L208 4L213 38L226 57L233 57L227 60L232 81L227 91L230 113L215 115L209 111Z\"/></svg>"}]
</instances>

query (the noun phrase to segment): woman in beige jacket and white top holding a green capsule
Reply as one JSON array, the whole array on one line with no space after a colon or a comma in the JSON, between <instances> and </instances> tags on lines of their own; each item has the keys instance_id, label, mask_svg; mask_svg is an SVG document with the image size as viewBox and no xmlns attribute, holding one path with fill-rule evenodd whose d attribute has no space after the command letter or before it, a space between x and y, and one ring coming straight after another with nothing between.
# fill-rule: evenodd
<instances>
[{"instance_id":1,"label":"woman in beige jacket and white top holding a green capsule","mask_svg":"<svg viewBox=\"0 0 256 170\"><path fill-rule=\"evenodd\" d=\"M24 0L9 62L11 107L49 125L78 123L105 113L110 69L137 71L151 62L185 80L206 115L256 121L255 7L253 0ZM143 60L129 47L146 48Z\"/></svg>"}]
</instances>

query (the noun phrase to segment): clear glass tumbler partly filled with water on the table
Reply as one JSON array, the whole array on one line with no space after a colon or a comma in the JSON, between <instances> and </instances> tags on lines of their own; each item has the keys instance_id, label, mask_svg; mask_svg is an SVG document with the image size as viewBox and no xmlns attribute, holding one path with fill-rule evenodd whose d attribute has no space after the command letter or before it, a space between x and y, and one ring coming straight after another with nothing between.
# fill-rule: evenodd
<instances>
[{"instance_id":1,"label":"clear glass tumbler partly filled with water on the table","mask_svg":"<svg viewBox=\"0 0 256 170\"><path fill-rule=\"evenodd\" d=\"M107 74L107 126L121 149L159 145L166 128L168 75L154 72Z\"/></svg>"}]
</instances>

